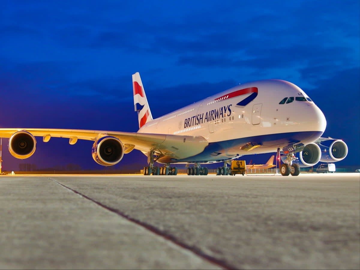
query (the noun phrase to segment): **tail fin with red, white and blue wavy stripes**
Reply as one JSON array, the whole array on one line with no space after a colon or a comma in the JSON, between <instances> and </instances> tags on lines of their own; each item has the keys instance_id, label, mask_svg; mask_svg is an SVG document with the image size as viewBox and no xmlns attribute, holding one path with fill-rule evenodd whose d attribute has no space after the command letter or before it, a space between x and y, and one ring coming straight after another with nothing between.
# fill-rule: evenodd
<instances>
[{"instance_id":1,"label":"tail fin with red, white and blue wavy stripes","mask_svg":"<svg viewBox=\"0 0 360 270\"><path fill-rule=\"evenodd\" d=\"M138 112L139 128L153 120L139 72L132 75L135 112Z\"/></svg>"}]
</instances>

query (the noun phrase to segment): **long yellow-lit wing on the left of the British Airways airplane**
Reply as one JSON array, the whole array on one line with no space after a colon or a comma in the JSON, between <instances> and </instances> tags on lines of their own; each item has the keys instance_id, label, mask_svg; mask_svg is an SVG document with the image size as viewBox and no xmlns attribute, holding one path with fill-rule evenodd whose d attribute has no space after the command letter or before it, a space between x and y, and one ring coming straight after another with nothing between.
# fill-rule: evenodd
<instances>
[{"instance_id":1,"label":"long yellow-lit wing on the left of the British Airways airplane","mask_svg":"<svg viewBox=\"0 0 360 270\"><path fill-rule=\"evenodd\" d=\"M118 132L104 130L77 130L77 129L0 129L0 137L10 138L17 131L27 131L33 136L43 137L48 141L51 137L69 138L70 144L77 139L96 141L104 136L113 136L124 145L125 153L132 149L142 152L154 150L156 154L183 159L201 153L208 145L202 136L185 136L169 134L152 134L139 132Z\"/></svg>"}]
</instances>

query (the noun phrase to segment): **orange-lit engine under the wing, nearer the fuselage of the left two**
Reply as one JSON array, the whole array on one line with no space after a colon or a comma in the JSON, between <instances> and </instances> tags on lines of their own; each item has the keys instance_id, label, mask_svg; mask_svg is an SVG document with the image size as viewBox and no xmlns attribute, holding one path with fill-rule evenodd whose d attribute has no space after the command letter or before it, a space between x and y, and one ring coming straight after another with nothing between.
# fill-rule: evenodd
<instances>
[{"instance_id":1,"label":"orange-lit engine under the wing, nearer the fuselage of the left two","mask_svg":"<svg viewBox=\"0 0 360 270\"><path fill-rule=\"evenodd\" d=\"M121 161L124 156L124 146L119 139L105 136L95 141L91 153L96 163L112 166Z\"/></svg>"}]
</instances>

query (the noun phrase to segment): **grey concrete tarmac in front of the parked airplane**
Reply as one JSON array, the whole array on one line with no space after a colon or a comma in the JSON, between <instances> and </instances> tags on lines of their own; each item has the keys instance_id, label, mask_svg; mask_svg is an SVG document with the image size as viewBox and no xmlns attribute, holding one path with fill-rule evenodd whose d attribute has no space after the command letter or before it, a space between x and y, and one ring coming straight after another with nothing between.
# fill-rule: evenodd
<instances>
[{"instance_id":1,"label":"grey concrete tarmac in front of the parked airplane","mask_svg":"<svg viewBox=\"0 0 360 270\"><path fill-rule=\"evenodd\" d=\"M359 269L360 174L0 176L0 269Z\"/></svg>"}]
</instances>

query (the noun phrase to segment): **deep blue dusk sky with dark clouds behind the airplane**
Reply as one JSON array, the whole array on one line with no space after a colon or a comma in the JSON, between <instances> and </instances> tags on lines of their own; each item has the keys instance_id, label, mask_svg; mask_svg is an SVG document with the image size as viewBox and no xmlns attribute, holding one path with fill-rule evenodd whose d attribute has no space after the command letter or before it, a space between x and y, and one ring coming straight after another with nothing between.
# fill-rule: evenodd
<instances>
[{"instance_id":1,"label":"deep blue dusk sky with dark clouds behind the airplane","mask_svg":"<svg viewBox=\"0 0 360 270\"><path fill-rule=\"evenodd\" d=\"M359 1L2 1L0 127L138 130L131 75L154 118L239 83L301 87L359 165ZM299 112L301 113L301 112ZM91 141L37 138L19 160L3 139L3 169L77 163L102 169ZM271 154L261 160L264 163ZM139 151L115 168L139 164Z\"/></svg>"}]
</instances>

